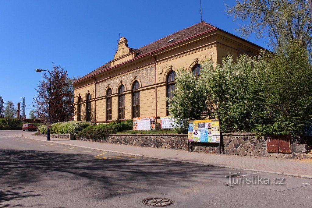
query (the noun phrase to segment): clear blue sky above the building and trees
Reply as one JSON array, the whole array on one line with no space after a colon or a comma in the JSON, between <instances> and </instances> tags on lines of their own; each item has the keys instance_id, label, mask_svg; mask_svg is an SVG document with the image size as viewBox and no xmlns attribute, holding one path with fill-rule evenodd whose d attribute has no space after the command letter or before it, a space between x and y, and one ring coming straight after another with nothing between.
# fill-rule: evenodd
<instances>
[{"instance_id":1,"label":"clear blue sky above the building and trees","mask_svg":"<svg viewBox=\"0 0 312 208\"><path fill-rule=\"evenodd\" d=\"M202 19L241 36L224 3L235 1L202 0ZM113 59L119 33L139 48L200 21L199 0L0 0L0 96L16 107L25 97L28 117L42 79L36 68L83 76Z\"/></svg>"}]
</instances>

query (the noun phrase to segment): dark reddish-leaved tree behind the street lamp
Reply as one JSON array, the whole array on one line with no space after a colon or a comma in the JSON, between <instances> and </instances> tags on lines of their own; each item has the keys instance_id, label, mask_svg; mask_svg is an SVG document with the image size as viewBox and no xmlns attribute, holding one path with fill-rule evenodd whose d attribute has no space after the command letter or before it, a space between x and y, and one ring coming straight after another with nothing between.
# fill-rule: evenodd
<instances>
[{"instance_id":1,"label":"dark reddish-leaved tree behind the street lamp","mask_svg":"<svg viewBox=\"0 0 312 208\"><path fill-rule=\"evenodd\" d=\"M42 121L46 121L49 111L49 73L42 74L43 79L35 88L38 95L34 98L36 114ZM53 65L51 71L51 102L50 117L54 122L69 121L74 115L74 91L70 86L67 71L61 66Z\"/></svg>"}]
</instances>

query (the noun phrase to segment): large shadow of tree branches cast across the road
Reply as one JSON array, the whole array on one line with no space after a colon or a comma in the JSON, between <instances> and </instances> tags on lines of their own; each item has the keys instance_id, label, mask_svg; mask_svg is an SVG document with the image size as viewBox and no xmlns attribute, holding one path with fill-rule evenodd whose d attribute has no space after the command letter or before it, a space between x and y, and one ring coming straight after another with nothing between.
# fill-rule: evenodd
<instances>
[{"instance_id":1,"label":"large shadow of tree branches cast across the road","mask_svg":"<svg viewBox=\"0 0 312 208\"><path fill-rule=\"evenodd\" d=\"M7 193L2 191L4 201L23 197L40 196L33 193L14 193L10 190L18 186L28 186L53 177L55 180L83 181L79 189L92 186L103 193L98 199L109 199L116 195L150 191L151 188L187 187L189 177L198 177L211 171L214 179L215 168L168 162L163 160L131 158L101 160L87 154L68 154L35 150L2 149L0 152L0 172L6 181ZM206 168L206 169L205 169ZM222 176L220 176L222 177ZM42 188L45 188L44 186ZM75 190L77 186L75 187ZM73 191L75 191L73 190ZM12 193L12 196L10 196ZM6 196L8 195L8 196Z\"/></svg>"}]
</instances>

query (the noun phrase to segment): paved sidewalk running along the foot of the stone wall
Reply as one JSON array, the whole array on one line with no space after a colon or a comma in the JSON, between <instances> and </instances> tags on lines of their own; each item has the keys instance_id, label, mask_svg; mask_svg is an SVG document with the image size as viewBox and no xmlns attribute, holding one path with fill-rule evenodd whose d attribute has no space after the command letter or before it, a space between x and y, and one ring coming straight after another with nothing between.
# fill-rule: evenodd
<instances>
[{"instance_id":1,"label":"paved sidewalk running along the foot of the stone wall","mask_svg":"<svg viewBox=\"0 0 312 208\"><path fill-rule=\"evenodd\" d=\"M22 137L22 133L16 134L16 136ZM24 137L46 141L46 137L28 134L25 135L25 133ZM247 157L225 154L206 154L163 148L143 148L130 145L95 143L78 140L73 141L52 137L51 141L49 142L96 149L106 152L130 154L141 157L170 160L176 162L187 162L199 165L209 165L212 167L227 167L255 172L267 172L286 176L312 178L312 159L292 160L279 159L274 157Z\"/></svg>"}]
</instances>

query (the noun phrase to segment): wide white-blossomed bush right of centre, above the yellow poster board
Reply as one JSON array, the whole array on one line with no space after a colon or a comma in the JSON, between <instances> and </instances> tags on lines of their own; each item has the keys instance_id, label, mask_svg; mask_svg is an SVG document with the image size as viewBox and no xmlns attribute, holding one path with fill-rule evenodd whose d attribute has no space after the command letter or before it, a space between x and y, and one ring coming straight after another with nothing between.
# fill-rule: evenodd
<instances>
[{"instance_id":1,"label":"wide white-blossomed bush right of centre, above the yellow poster board","mask_svg":"<svg viewBox=\"0 0 312 208\"><path fill-rule=\"evenodd\" d=\"M265 56L252 59L242 55L236 62L227 56L215 68L211 61L204 61L202 74L211 119L221 119L224 131L252 131L261 123L265 98L262 77L266 70Z\"/></svg>"}]
</instances>

